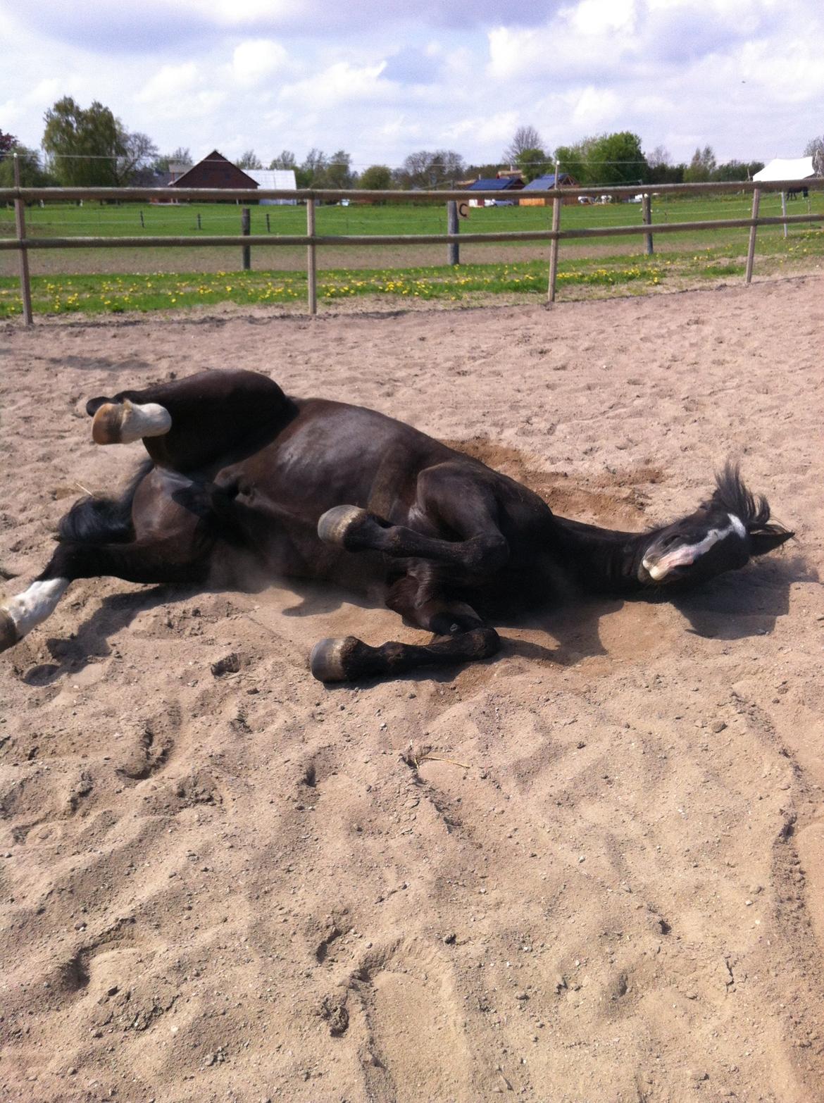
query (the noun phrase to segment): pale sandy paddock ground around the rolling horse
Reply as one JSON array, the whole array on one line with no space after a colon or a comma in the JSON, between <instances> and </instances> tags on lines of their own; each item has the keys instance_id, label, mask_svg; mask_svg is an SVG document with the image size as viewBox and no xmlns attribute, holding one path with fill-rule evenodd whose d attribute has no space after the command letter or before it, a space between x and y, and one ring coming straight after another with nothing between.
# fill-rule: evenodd
<instances>
[{"instance_id":1,"label":"pale sandy paddock ground around the rolling horse","mask_svg":"<svg viewBox=\"0 0 824 1103\"><path fill-rule=\"evenodd\" d=\"M820 277L3 325L7 593L141 454L85 397L226 366L604 524L691 510L731 454L798 540L336 689L315 640L420 633L342 592L76 582L0 658L0 1097L823 1099L823 325Z\"/></svg>"}]
</instances>

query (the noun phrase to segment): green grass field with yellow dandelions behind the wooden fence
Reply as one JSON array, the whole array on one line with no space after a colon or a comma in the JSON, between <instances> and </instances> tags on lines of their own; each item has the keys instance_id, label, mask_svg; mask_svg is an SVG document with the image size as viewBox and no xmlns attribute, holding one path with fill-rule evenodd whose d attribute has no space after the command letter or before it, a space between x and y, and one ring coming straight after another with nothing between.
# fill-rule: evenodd
<instances>
[{"instance_id":1,"label":"green grass field with yellow dandelions behind the wooden fence","mask_svg":"<svg viewBox=\"0 0 824 1103\"><path fill-rule=\"evenodd\" d=\"M748 217L749 196L719 199L653 200L653 222L694 222ZM820 212L824 219L824 196L788 204L788 213ZM306 233L306 210L300 206L253 206L252 233L295 235ZM779 215L780 197L767 195L762 215ZM268 217L268 226L267 226ZM461 228L469 232L548 229L550 207L474 208ZM200 227L199 227L200 222ZM561 228L638 225L640 204L569 205L563 208ZM180 309L195 304L232 301L290 303L306 301L306 250L302 248L253 249L250 272L231 270L238 266L237 248L193 247L175 250L118 249L124 236L191 236L237 234L240 213L231 204L153 206L149 204L83 207L54 204L26 210L26 232L35 237L105 236L113 248L32 250L33 304L36 313L106 313L127 310ZM442 206L321 206L317 212L319 234L431 234L446 229ZM643 254L642 237L563 242L558 272L559 298L584 295L642 293L651 288L682 287L704 280L738 277L749 231L693 231L659 234L655 253ZM13 237L11 210L0 211L0 237ZM421 263L421 255L427 259ZM461 301L490 295L545 295L547 286L546 243L510 246L489 243L463 246L458 268L432 264L446 253L438 247L329 247L323 250L318 275L320 302L359 296L389 296L398 299ZM759 231L757 270L770 272L811 268L824 255L824 232L817 224ZM173 256L174 270L170 258ZM14 253L0 254L0 318L21 312ZM278 264L277 269L260 267ZM373 265L375 267L365 267ZM331 267L334 265L335 267ZM118 267L119 266L119 267ZM225 267L220 267L225 266ZM325 267L323 267L325 266ZM345 266L345 267L343 267ZM152 270L157 267L159 270ZM186 270L180 270L181 267Z\"/></svg>"}]
</instances>

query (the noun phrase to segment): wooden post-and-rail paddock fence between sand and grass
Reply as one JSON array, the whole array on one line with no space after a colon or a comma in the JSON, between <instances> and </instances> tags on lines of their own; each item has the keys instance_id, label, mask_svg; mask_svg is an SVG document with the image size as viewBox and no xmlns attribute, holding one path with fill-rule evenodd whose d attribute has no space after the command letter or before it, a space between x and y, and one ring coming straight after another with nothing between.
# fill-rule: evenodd
<instances>
[{"instance_id":1,"label":"wooden post-and-rail paddock fence between sand and grass","mask_svg":"<svg viewBox=\"0 0 824 1103\"><path fill-rule=\"evenodd\" d=\"M19 180L19 169L15 159L15 180ZM319 245L448 245L459 243L473 244L483 242L546 242L550 246L549 283L547 300L555 301L557 282L558 244L563 240L574 240L595 237L631 237L643 236L648 251L652 250L655 234L679 234L688 231L735 229L749 227L749 246L747 250L747 269L745 282L752 279L752 267L756 251L756 234L759 226L786 226L794 224L818 222L824 217L821 212L798 215L782 213L778 216L760 217L760 197L764 192L782 194L782 211L785 211L784 197L788 192L801 189L818 191L824 189L824 176L812 176L804 181L771 180L771 181L734 181L724 183L700 184L661 184L654 188L643 184L621 184L601 188L553 188L531 190L531 200L552 201L552 229L539 231L492 231L489 233L454 233L443 234L318 234L315 232L315 204L338 203L347 200L350 203L449 203L467 202L468 199L483 202L495 200L501 202L500 191L473 191L467 189L443 189L438 191L366 191L357 189L311 189L302 188L291 191L271 189L212 189L212 188L0 188L0 205L14 204L15 236L0 238L0 250L14 249L20 255L20 288L23 300L23 319L26 325L33 324L31 309L31 287L29 276L28 254L30 249L88 249L88 248L168 248L191 246L240 246L245 250L252 246L306 246L307 247L307 286L308 310L310 314L318 312L315 249ZM752 215L749 218L717 218L703 222L666 222L652 223L651 199L674 195L718 195L748 193L752 194ZM517 192L511 193L517 201ZM639 225L560 228L560 215L565 200L587 197L598 200L601 196L610 200L633 200L642 196L643 222ZM261 234L220 234L199 237L188 236L140 236L140 237L28 237L25 233L25 204L64 202L66 200L100 200L109 202L124 201L165 201L165 202L216 202L234 200L237 203L257 204L260 200L297 200L307 206L307 233L303 235L261 235ZM506 200L510 199L507 193ZM244 224L244 228L245 228ZM449 226L451 229L451 226Z\"/></svg>"}]
</instances>

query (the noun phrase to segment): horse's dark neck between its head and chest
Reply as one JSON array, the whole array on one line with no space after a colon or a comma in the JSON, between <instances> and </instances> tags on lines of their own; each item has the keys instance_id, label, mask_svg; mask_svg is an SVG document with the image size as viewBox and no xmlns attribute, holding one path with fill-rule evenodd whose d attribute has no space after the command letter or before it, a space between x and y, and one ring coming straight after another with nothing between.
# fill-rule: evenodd
<instances>
[{"instance_id":1,"label":"horse's dark neck between its head and chest","mask_svg":"<svg viewBox=\"0 0 824 1103\"><path fill-rule=\"evenodd\" d=\"M649 533L599 528L554 515L559 546L567 567L585 590L631 592L641 589L638 568Z\"/></svg>"}]
</instances>

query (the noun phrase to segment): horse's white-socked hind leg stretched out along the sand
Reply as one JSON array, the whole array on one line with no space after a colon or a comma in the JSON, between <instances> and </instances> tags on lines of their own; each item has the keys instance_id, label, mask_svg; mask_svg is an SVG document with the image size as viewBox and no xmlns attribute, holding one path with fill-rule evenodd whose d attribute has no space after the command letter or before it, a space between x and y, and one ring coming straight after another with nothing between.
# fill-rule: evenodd
<instances>
[{"instance_id":1,"label":"horse's white-socked hind leg stretched out along the sand","mask_svg":"<svg viewBox=\"0 0 824 1103\"><path fill-rule=\"evenodd\" d=\"M129 544L60 544L45 570L0 606L0 651L42 624L77 578L109 576L127 582L203 582L208 558L180 534Z\"/></svg>"}]
</instances>

